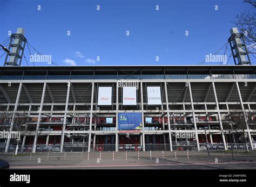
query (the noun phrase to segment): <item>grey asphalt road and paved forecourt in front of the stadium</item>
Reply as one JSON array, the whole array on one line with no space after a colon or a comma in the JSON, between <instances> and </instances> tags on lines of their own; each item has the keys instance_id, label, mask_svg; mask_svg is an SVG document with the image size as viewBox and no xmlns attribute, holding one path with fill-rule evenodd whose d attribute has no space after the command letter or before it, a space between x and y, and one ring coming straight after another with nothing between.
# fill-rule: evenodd
<instances>
[{"instance_id":1,"label":"grey asphalt road and paved forecourt in front of the stadium","mask_svg":"<svg viewBox=\"0 0 256 187\"><path fill-rule=\"evenodd\" d=\"M65 157L35 154L18 155L8 157L5 160L10 163L10 169L256 169L256 157L254 155L240 154L232 159L231 154L194 153L187 158L186 152L177 153L177 158L170 152L149 153L128 153L125 160L125 153L115 153L114 160L112 152L105 152L99 156L98 152L91 153L89 160L87 153L66 154ZM77 156L78 155L78 156ZM47 156L47 155L46 155ZM61 155L60 155L61 156ZM99 157L101 159L99 159Z\"/></svg>"}]
</instances>

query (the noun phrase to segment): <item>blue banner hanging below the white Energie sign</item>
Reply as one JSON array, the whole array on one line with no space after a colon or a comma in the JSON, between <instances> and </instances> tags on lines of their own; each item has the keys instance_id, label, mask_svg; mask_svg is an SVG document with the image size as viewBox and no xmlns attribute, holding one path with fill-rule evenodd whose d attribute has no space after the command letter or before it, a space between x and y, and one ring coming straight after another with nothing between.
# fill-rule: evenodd
<instances>
[{"instance_id":1,"label":"blue banner hanging below the white Energie sign","mask_svg":"<svg viewBox=\"0 0 256 187\"><path fill-rule=\"evenodd\" d=\"M118 113L118 130L141 130L142 113Z\"/></svg>"}]
</instances>

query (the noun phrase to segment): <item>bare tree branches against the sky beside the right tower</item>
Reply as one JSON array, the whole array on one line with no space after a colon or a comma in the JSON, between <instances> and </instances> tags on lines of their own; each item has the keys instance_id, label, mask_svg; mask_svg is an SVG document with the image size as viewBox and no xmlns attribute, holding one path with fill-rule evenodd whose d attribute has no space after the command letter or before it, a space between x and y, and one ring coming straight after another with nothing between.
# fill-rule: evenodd
<instances>
[{"instance_id":1,"label":"bare tree branches against the sky beside the right tower","mask_svg":"<svg viewBox=\"0 0 256 187\"><path fill-rule=\"evenodd\" d=\"M252 11L246 10L239 13L233 23L244 33L248 51L256 52L256 0L244 0L244 3L252 5Z\"/></svg>"}]
</instances>

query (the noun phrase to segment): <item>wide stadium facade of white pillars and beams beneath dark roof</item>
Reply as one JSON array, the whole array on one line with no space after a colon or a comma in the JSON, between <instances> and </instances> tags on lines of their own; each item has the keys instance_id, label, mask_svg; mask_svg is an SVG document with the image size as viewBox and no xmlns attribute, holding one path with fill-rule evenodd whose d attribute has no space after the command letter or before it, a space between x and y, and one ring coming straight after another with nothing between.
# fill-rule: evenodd
<instances>
[{"instance_id":1,"label":"wide stadium facade of white pillars and beams beneath dark roof","mask_svg":"<svg viewBox=\"0 0 256 187\"><path fill-rule=\"evenodd\" d=\"M256 66L0 69L1 152L254 148Z\"/></svg>"}]
</instances>

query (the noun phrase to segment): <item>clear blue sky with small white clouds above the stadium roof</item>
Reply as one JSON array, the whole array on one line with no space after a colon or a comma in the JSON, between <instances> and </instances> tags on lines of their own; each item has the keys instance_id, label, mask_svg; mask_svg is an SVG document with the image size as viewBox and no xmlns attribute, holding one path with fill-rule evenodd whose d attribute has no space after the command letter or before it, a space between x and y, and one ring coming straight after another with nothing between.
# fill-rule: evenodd
<instances>
[{"instance_id":1,"label":"clear blue sky with small white clouds above the stadium roof","mask_svg":"<svg viewBox=\"0 0 256 187\"><path fill-rule=\"evenodd\" d=\"M62 66L198 64L227 42L235 15L250 8L243 0L0 0L0 42L23 27L28 42ZM29 61L28 48L25 56Z\"/></svg>"}]
</instances>

